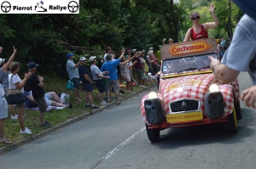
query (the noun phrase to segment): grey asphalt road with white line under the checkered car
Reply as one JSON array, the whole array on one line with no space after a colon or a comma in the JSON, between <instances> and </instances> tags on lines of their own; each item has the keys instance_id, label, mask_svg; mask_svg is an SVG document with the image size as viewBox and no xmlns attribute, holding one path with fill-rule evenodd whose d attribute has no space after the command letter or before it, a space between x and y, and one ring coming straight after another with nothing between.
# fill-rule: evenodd
<instances>
[{"instance_id":1,"label":"grey asphalt road with white line under the checkered car","mask_svg":"<svg viewBox=\"0 0 256 169\"><path fill-rule=\"evenodd\" d=\"M241 91L252 86L247 73L238 80ZM1 155L0 169L256 167L255 110L241 103L235 135L219 125L172 128L151 144L140 113L145 93Z\"/></svg>"}]
</instances>

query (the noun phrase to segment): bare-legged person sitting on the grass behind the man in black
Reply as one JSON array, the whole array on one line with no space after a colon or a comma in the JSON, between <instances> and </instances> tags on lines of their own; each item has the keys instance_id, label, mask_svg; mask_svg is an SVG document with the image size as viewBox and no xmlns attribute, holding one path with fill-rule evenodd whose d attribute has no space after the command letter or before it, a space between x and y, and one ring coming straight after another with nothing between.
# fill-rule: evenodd
<instances>
[{"instance_id":1,"label":"bare-legged person sitting on the grass behind the man in black","mask_svg":"<svg viewBox=\"0 0 256 169\"><path fill-rule=\"evenodd\" d=\"M24 91L23 93L26 96L26 102L25 102L25 107L27 108L35 108L38 107L38 104L36 100L32 96L32 91L26 92ZM49 92L44 94L44 99L46 102L47 106L56 106L56 107L68 107L72 108L73 104L63 104L61 102L61 99L55 92Z\"/></svg>"}]
</instances>

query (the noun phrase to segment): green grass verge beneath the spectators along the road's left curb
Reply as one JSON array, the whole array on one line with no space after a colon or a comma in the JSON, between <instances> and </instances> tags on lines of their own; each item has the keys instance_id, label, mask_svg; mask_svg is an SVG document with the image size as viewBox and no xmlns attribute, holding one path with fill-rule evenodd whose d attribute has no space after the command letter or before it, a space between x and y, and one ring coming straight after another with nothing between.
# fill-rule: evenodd
<instances>
[{"instance_id":1,"label":"green grass verge beneath the spectators along the road's left curb","mask_svg":"<svg viewBox=\"0 0 256 169\"><path fill-rule=\"evenodd\" d=\"M40 74L39 74L40 75ZM56 76L45 76L44 77L44 90L45 93L48 92L55 92L55 93L69 93L70 94L70 102L73 103L72 109L63 109L63 110L50 110L49 112L45 113L45 120L52 123L52 127L59 125L68 119L73 119L76 116L83 115L84 113L92 111L90 108L85 106L85 102L78 102L74 100L74 93L71 90L66 89L67 81L62 80ZM120 87L120 89L125 90L124 87ZM132 93L135 93L141 90L141 87L133 87ZM84 98L85 92L81 89L80 90L81 96ZM130 93L124 93L124 96L129 95ZM114 94L112 94L114 96ZM119 96L122 99L124 96ZM95 87L93 91L93 99L94 104L96 106L101 107L102 105L99 104L98 99L98 90ZM113 99L114 101L115 99ZM32 135L37 134L38 132L43 132L47 128L41 127L39 123L38 111L36 110L25 110L25 126L32 130ZM15 110L17 114L17 111ZM9 114L10 116L10 114ZM13 143L18 142L25 138L30 138L32 135L20 134L20 124L17 120L11 120L9 117L4 121L4 135L7 138L10 138ZM0 144L0 148L9 145L9 144Z\"/></svg>"}]
</instances>

